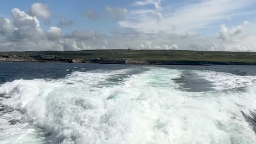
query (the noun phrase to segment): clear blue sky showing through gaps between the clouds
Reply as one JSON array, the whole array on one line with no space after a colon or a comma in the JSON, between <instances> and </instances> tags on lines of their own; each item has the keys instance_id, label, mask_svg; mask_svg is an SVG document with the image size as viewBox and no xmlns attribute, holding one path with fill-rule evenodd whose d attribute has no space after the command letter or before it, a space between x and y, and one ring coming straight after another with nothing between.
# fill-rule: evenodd
<instances>
[{"instance_id":1,"label":"clear blue sky showing through gaps between the clouds","mask_svg":"<svg viewBox=\"0 0 256 144\"><path fill-rule=\"evenodd\" d=\"M11 17L11 9L19 8L22 11L28 11L31 7L31 4L40 2L47 4L49 9L53 12L53 17L51 20L53 21L53 25L57 23L58 17L65 17L68 20L72 20L74 23L72 26L65 27L62 31L65 32L72 32L75 29L83 30L86 29L96 29L100 32L106 33L109 31L115 31L115 29L121 28L117 21L114 19L106 19L105 8L107 5L110 7L120 7L126 8L130 10L134 10L136 8L132 7L132 3L135 1L120 1L120 0L112 0L112 1L102 1L102 0L94 0L94 1L83 1L83 0L76 0L76 1L33 1L33 0L26 0L26 1L6 1L5 4L0 5L0 13L2 16ZM195 4L199 3L200 1L162 1L163 8L172 8L176 9L179 7L184 7L184 5L188 4ZM246 7L245 9L237 9L234 10L234 13L242 13L245 11L254 11L256 5L251 5ZM142 9L153 8L153 5L145 5ZM80 15L80 13L86 13L89 9L94 10L96 13L102 15L101 20L90 20L86 17ZM173 10L170 11L172 13ZM212 22L208 26L215 26L216 28L203 28L199 29L199 32L202 35L212 34L218 32L218 26L225 24L227 26L236 26L240 25L245 20L254 21L255 20L255 13L251 15L241 15L232 17L232 19L224 19ZM104 26L102 25L104 23ZM44 29L49 28L49 26L41 25Z\"/></svg>"}]
</instances>

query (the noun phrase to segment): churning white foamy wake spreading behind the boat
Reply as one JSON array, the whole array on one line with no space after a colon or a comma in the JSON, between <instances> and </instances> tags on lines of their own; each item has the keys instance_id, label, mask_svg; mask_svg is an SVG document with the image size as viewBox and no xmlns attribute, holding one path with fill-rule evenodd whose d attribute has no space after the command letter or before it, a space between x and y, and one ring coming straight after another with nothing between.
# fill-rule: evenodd
<instances>
[{"instance_id":1,"label":"churning white foamy wake spreading behind the boat","mask_svg":"<svg viewBox=\"0 0 256 144\"><path fill-rule=\"evenodd\" d=\"M248 120L256 110L255 77L194 71L216 91L186 92L175 81L184 70L148 68L103 85L127 71L15 80L1 85L10 97L1 103L43 128L48 136L41 143L256 143ZM245 91L222 91L240 86ZM9 133L5 128L1 133Z\"/></svg>"}]
</instances>

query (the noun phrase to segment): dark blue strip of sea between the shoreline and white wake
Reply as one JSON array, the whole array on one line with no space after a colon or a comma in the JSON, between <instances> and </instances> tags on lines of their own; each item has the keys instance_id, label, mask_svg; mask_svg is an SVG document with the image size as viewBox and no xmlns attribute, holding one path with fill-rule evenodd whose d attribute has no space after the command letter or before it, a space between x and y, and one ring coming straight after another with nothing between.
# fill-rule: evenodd
<instances>
[{"instance_id":1,"label":"dark blue strip of sea between the shoreline and white wake","mask_svg":"<svg viewBox=\"0 0 256 144\"><path fill-rule=\"evenodd\" d=\"M90 70L119 70L126 68L138 68L146 70L144 65L116 65L116 64L67 64L67 63L0 63L0 83L17 79L59 79L65 77L72 71ZM150 67L153 67L150 65ZM154 65L154 67L166 67L170 69L184 70L213 70L224 73L231 73L241 76L256 75L256 66L243 65L211 65L211 66L191 66L191 65ZM186 72L187 73L187 72ZM189 73L189 72L188 72Z\"/></svg>"}]
</instances>

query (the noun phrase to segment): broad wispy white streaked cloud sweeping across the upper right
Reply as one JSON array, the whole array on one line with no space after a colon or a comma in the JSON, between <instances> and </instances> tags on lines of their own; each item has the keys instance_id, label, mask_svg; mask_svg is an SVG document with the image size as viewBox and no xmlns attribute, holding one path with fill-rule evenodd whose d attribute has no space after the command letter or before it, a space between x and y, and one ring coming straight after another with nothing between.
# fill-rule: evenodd
<instances>
[{"instance_id":1,"label":"broad wispy white streaked cloud sweeping across the upper right","mask_svg":"<svg viewBox=\"0 0 256 144\"><path fill-rule=\"evenodd\" d=\"M133 28L141 32L165 31L168 33L182 34L195 31L198 28L225 20L235 16L234 11L245 9L256 3L253 0L202 0L198 3L186 4L181 7L161 8L161 1L139 1L133 3L136 8L140 5L154 4L154 15L130 14L127 19L119 21L119 25L125 28ZM142 9L138 9L143 10ZM245 13L246 14L246 13Z\"/></svg>"}]
</instances>

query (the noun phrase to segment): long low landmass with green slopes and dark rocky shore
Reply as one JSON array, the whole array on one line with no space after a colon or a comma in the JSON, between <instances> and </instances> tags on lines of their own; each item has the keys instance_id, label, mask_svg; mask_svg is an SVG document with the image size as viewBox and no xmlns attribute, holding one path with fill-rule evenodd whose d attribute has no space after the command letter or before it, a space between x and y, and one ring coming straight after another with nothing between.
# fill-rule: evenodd
<instances>
[{"instance_id":1,"label":"long low landmass with green slopes and dark rocky shore","mask_svg":"<svg viewBox=\"0 0 256 144\"><path fill-rule=\"evenodd\" d=\"M85 50L0 52L0 62L160 65L256 65L256 52L184 50Z\"/></svg>"}]
</instances>

